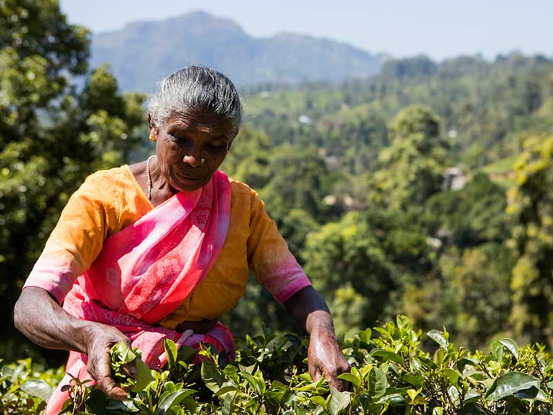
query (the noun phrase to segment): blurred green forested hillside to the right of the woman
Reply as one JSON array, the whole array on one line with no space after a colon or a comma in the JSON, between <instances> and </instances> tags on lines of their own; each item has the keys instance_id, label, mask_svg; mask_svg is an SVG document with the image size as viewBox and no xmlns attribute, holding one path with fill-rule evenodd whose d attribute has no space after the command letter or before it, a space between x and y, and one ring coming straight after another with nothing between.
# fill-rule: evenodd
<instances>
[{"instance_id":1,"label":"blurred green forested hillside to the right of the woman","mask_svg":"<svg viewBox=\"0 0 553 415\"><path fill-rule=\"evenodd\" d=\"M549 342L552 75L543 56L418 56L339 86L259 86L225 167L259 190L340 333L404 313L466 347ZM264 296L252 286L229 323L274 315Z\"/></svg>"}]
</instances>

